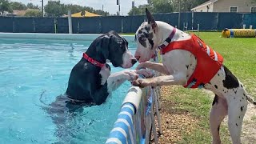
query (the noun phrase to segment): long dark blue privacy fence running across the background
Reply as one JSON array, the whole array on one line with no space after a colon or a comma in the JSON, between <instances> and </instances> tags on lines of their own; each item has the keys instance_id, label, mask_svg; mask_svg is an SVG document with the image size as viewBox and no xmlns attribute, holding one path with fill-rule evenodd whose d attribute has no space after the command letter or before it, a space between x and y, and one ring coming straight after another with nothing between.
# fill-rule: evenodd
<instances>
[{"instance_id":1,"label":"long dark blue privacy fence running across the background","mask_svg":"<svg viewBox=\"0 0 256 144\"><path fill-rule=\"evenodd\" d=\"M178 26L178 15L154 14L154 18ZM198 28L198 24L200 30L242 28L243 24L246 28L250 25L256 27L256 14L186 12L180 15L181 30L192 30L192 22L193 30ZM72 28L74 34L102 34L110 30L118 33L135 33L145 21L145 15L72 18ZM68 19L0 17L0 32L67 34Z\"/></svg>"}]
</instances>

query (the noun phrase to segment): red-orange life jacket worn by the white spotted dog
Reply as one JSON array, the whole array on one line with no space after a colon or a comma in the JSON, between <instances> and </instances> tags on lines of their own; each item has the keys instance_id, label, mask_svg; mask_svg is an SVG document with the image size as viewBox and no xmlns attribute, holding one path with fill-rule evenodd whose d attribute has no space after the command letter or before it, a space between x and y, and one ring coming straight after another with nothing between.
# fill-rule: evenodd
<instances>
[{"instance_id":1,"label":"red-orange life jacket worn by the white spotted dog","mask_svg":"<svg viewBox=\"0 0 256 144\"><path fill-rule=\"evenodd\" d=\"M168 46L161 46L161 54L166 54L171 50L187 50L194 54L197 59L197 66L184 87L202 88L217 74L222 66L223 58L221 54L206 46L205 42L196 35L190 35L191 38L188 40L170 42Z\"/></svg>"}]
</instances>

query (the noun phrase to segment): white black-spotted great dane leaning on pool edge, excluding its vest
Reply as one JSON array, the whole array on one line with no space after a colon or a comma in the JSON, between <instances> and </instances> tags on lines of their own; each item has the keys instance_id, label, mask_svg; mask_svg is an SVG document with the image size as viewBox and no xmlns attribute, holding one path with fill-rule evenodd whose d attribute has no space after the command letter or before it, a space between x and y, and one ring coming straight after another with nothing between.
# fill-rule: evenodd
<instances>
[{"instance_id":1,"label":"white black-spotted great dane leaning on pool edge, excluding its vest","mask_svg":"<svg viewBox=\"0 0 256 144\"><path fill-rule=\"evenodd\" d=\"M191 37L190 34L178 29L174 33L176 28L166 22L154 21L148 10L146 10L146 16L148 22L143 22L135 34L135 41L138 44L135 58L140 62L138 68L146 67L166 75L156 78L138 78L133 82L134 86L186 85L197 66L197 58L194 57L194 54L187 50L171 50L162 55L162 63L148 61L158 46L162 46L166 39L170 38L170 35L169 42L172 43L189 39ZM213 143L221 143L219 126L223 118L228 115L228 126L232 142L240 144L242 120L246 113L247 100L254 105L256 105L256 102L246 93L242 82L224 65L221 65L221 68L210 79L210 82L203 87L215 94L210 111L210 130L213 136Z\"/></svg>"}]
</instances>

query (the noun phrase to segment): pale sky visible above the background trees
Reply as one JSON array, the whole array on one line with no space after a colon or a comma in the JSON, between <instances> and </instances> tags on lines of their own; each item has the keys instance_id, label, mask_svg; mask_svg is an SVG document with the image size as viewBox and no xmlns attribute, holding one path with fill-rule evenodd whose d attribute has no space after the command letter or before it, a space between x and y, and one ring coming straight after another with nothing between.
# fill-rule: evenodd
<instances>
[{"instance_id":1,"label":"pale sky visible above the background trees","mask_svg":"<svg viewBox=\"0 0 256 144\"><path fill-rule=\"evenodd\" d=\"M22 3L33 3L34 5L42 6L41 0L10 0L11 2L22 2ZM44 0L44 6L49 0ZM61 3L65 4L76 4L80 6L90 6L94 9L102 10L102 5L104 5L104 11L108 11L110 14L117 14L118 5L116 5L117 0L60 0ZM132 0L120 0L121 2L121 14L127 15L131 9ZM147 0L134 0L135 6L146 4Z\"/></svg>"}]
</instances>

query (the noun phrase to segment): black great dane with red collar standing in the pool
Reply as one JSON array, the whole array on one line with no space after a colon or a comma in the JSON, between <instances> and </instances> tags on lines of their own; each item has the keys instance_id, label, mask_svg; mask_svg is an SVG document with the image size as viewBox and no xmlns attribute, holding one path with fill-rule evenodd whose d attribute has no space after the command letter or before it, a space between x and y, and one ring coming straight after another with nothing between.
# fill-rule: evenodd
<instances>
[{"instance_id":1,"label":"black great dane with red collar standing in the pool","mask_svg":"<svg viewBox=\"0 0 256 144\"><path fill-rule=\"evenodd\" d=\"M102 34L91 43L81 60L74 66L66 95L74 101L100 105L111 91L126 80L134 81L139 74L152 76L149 70L122 70L110 74L111 62L114 67L130 68L137 60L128 50L128 42L114 31Z\"/></svg>"}]
</instances>

